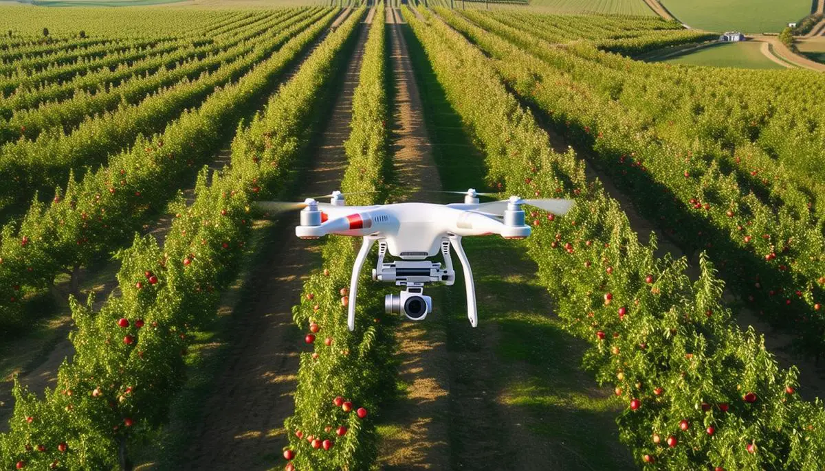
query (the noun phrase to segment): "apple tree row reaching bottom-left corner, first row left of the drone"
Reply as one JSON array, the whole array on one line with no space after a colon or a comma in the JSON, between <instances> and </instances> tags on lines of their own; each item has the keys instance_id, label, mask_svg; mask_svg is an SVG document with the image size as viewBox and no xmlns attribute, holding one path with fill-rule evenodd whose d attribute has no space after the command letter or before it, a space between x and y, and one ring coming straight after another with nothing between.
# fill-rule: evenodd
<instances>
[{"instance_id":1,"label":"apple tree row reaching bottom-left corner, first row left of the drone","mask_svg":"<svg viewBox=\"0 0 825 471\"><path fill-rule=\"evenodd\" d=\"M296 35L281 49L283 55L259 64L252 76L238 82L238 91L225 89L226 96L240 102L240 97L260 90L281 61L295 57L318 37L335 13L328 11L322 21ZM57 469L122 468L128 462L119 458L120 452L125 455L131 441L163 423L184 380L187 333L214 315L219 292L237 270L250 235L252 199L276 193L289 182L290 172L272 170L293 165L307 142L313 123L304 110L315 104L318 87L329 83L328 74L314 73L318 63L335 56L361 16L352 15L329 35L271 100L270 110L295 118L282 128L282 144L256 152L254 160L252 154L233 152L232 165L211 180L201 173L195 201L188 207L176 204L180 212L163 248L147 235L135 236L134 244L120 251L120 296L111 296L97 312L92 299L85 306L73 302L73 360L64 361L57 385L46 391L45 399L16 385L11 431L0 436L0 466L13 469L23 461L43 469L56 461ZM309 72L307 64L313 64ZM300 100L295 91L304 89L308 96ZM222 101L213 105L229 106ZM243 130L247 137L251 133Z\"/></svg>"}]
</instances>

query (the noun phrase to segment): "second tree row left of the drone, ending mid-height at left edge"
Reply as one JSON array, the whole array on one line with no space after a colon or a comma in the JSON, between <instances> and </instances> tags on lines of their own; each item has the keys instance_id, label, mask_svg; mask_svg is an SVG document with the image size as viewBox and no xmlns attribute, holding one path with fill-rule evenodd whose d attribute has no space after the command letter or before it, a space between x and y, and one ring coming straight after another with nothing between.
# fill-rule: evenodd
<instances>
[{"instance_id":1,"label":"second tree row left of the drone, ending mid-height at left edge","mask_svg":"<svg viewBox=\"0 0 825 471\"><path fill-rule=\"evenodd\" d=\"M237 122L246 105L332 21L328 10L313 12L274 35L271 42L260 44L244 59L248 61L244 68L235 68L233 63L225 67L228 72L219 69L216 73L227 79L244 70L251 72L233 79L232 85L213 90L199 109L186 110L152 138L139 135L130 150L111 156L107 166L87 172L80 181L69 173L66 188L58 190L48 207L35 201L19 227L4 226L0 237L0 323L19 317L19 301L27 291L47 287L62 268L87 263L120 247L148 215L163 208L175 194L181 175L214 156L223 133ZM279 44L280 49L270 54ZM115 120L111 125L117 128L119 123ZM90 126L88 133L111 138L105 128L97 126ZM100 148L100 142L92 138L92 142L77 139L88 147L78 147L78 142L64 144L83 148L83 152Z\"/></svg>"}]
</instances>

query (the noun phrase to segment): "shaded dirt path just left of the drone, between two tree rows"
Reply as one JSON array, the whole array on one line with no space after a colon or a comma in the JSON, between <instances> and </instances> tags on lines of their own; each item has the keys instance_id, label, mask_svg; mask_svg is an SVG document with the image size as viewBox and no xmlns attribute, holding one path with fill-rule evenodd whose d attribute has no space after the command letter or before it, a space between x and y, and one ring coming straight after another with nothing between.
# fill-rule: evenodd
<instances>
[{"instance_id":1,"label":"shaded dirt path just left of the drone, between two tree rows","mask_svg":"<svg viewBox=\"0 0 825 471\"><path fill-rule=\"evenodd\" d=\"M361 27L349 59L342 91L318 143L302 194L325 194L337 188L347 166L343 142L349 135L352 94L358 85L368 28ZM281 224L281 245L266 254L247 312L233 315L232 343L214 391L205 400L205 415L193 433L185 469L267 469L272 455L286 444L283 423L293 413L291 399L299 366L299 330L292 306L304 279L318 266L317 245L295 238L294 226Z\"/></svg>"}]
</instances>

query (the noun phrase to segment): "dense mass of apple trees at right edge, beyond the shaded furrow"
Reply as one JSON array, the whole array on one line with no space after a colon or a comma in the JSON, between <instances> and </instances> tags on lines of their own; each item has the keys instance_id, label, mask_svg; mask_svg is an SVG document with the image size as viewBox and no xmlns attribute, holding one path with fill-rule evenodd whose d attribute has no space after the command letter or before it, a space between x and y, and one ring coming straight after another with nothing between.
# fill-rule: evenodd
<instances>
[{"instance_id":1,"label":"dense mass of apple trees at right edge, beyond the shaded furrow","mask_svg":"<svg viewBox=\"0 0 825 471\"><path fill-rule=\"evenodd\" d=\"M822 352L825 187L811 166L820 114L797 107L818 106L808 98L817 73L668 68L585 42L528 44L460 16L450 24L497 58L559 133L591 148L643 214L688 250L724 260L728 287L796 330L801 350Z\"/></svg>"}]
</instances>

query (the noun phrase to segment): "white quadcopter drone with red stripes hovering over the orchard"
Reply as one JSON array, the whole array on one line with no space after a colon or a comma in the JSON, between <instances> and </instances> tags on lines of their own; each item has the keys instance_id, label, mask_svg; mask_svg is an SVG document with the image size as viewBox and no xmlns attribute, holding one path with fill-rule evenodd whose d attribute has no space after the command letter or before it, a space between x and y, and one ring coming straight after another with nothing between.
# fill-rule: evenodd
<instances>
[{"instance_id":1,"label":"white quadcopter drone with red stripes hovering over the orchard","mask_svg":"<svg viewBox=\"0 0 825 471\"><path fill-rule=\"evenodd\" d=\"M372 279L380 282L394 282L404 287L401 294L387 295L384 307L388 314L406 315L411 320L423 320L432 310L432 298L424 296L426 283L444 282L452 286L455 271L450 258L450 245L458 254L464 269L464 284L467 290L467 317L475 327L479 323L475 303L475 287L469 260L461 246L461 238L468 235L502 235L505 239L524 239L530 235L530 226L525 223L525 213L521 205L529 204L544 211L563 215L573 206L567 199L521 199L512 196L502 201L479 203L474 189L467 192L445 192L464 194L464 203L395 203L375 206L347 206L340 191L318 197L330 197L330 203L318 203L307 198L304 203L264 202L259 208L269 212L283 212L301 209L300 225L295 227L295 235L301 239L318 239L323 235L350 235L363 237L364 242L352 267L350 301L347 327L355 329L356 296L358 276L361 273L372 245L377 241L378 263L372 271ZM394 262L385 263L384 256L397 257ZM428 258L439 252L444 257L441 263Z\"/></svg>"}]
</instances>

